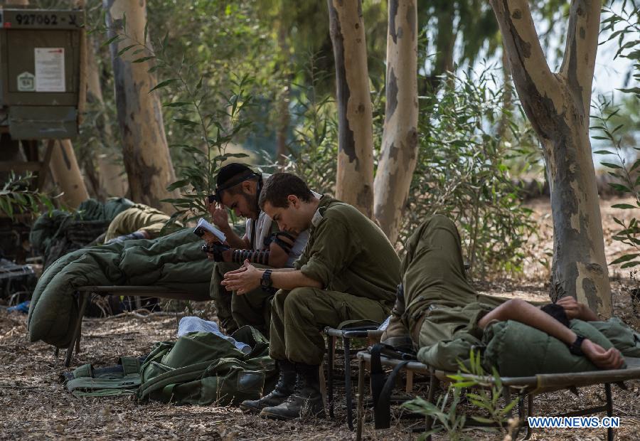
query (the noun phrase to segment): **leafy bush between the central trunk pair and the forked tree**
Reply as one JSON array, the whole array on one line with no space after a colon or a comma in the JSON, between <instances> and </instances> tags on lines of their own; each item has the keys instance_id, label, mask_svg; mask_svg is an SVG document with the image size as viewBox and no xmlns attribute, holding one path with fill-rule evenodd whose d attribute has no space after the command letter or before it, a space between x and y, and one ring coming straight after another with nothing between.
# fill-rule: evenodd
<instances>
[{"instance_id":1,"label":"leafy bush between the central trunk pair and the forked tree","mask_svg":"<svg viewBox=\"0 0 640 441\"><path fill-rule=\"evenodd\" d=\"M530 144L530 130L503 114L508 85L490 87L491 71L449 75L434 95L420 97L419 149L400 240L428 216L441 213L459 226L471 274L520 270L522 246L533 233L506 161ZM508 139L496 134L508 127Z\"/></svg>"}]
</instances>

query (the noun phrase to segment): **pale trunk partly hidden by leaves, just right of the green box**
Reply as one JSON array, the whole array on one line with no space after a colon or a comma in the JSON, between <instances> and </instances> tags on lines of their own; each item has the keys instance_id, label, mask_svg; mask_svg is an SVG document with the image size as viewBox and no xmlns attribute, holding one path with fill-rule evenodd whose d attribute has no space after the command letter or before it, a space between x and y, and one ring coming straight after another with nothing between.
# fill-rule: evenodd
<instances>
[{"instance_id":1,"label":"pale trunk partly hidden by leaves, just right of the green box","mask_svg":"<svg viewBox=\"0 0 640 441\"><path fill-rule=\"evenodd\" d=\"M96 47L93 38L87 38L87 101L96 102L103 107L102 86L100 85L100 71L96 60ZM110 124L104 117L98 122L97 129L102 132L102 144L113 139ZM100 149L95 151L95 161L97 163L97 186L102 191L103 196L124 196L127 193L127 181L122 176L122 166L116 164L109 154Z\"/></svg>"}]
</instances>

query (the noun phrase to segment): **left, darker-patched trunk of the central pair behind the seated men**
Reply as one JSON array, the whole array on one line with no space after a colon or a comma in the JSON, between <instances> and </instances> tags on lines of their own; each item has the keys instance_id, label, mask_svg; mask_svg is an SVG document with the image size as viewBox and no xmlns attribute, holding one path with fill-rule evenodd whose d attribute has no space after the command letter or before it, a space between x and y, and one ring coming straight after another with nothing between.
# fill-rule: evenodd
<instances>
[{"instance_id":1,"label":"left, darker-patched trunk of the central pair behind the seated men","mask_svg":"<svg viewBox=\"0 0 640 441\"><path fill-rule=\"evenodd\" d=\"M361 0L328 0L336 60L336 197L373 217L373 113Z\"/></svg>"}]
</instances>

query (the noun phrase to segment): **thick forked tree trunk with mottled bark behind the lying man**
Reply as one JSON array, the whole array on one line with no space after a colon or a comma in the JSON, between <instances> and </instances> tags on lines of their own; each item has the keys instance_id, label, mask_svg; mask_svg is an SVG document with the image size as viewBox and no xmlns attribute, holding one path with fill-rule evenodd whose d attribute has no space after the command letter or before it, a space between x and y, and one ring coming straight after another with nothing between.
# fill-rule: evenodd
<instances>
[{"instance_id":1,"label":"thick forked tree trunk with mottled bark behind the lying man","mask_svg":"<svg viewBox=\"0 0 640 441\"><path fill-rule=\"evenodd\" d=\"M511 75L545 151L553 215L552 299L572 296L604 317L611 287L589 139L600 0L572 0L567 44L550 71L526 0L490 0Z\"/></svg>"}]
</instances>

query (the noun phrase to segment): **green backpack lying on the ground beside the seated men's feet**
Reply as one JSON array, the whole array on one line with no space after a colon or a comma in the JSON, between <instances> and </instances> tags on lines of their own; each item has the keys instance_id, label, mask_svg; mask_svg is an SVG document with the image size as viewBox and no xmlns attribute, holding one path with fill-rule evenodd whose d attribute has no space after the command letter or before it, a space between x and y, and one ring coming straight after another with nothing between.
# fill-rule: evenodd
<instances>
[{"instance_id":1,"label":"green backpack lying on the ground beside the seated men's feet","mask_svg":"<svg viewBox=\"0 0 640 441\"><path fill-rule=\"evenodd\" d=\"M251 346L250 353L244 354L229 341L207 332L157 343L140 370L138 399L237 405L269 393L278 373L269 356L269 342L251 326L242 326L232 336Z\"/></svg>"}]
</instances>

